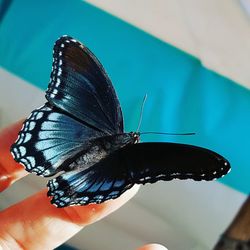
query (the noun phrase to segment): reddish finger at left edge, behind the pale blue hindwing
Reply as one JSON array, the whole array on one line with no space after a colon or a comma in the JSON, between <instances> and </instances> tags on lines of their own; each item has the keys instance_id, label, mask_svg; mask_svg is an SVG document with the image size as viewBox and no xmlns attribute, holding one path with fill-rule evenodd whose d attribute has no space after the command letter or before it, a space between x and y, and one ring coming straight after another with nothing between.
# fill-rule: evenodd
<instances>
[{"instance_id":1,"label":"reddish finger at left edge, behind the pale blue hindwing","mask_svg":"<svg viewBox=\"0 0 250 250\"><path fill-rule=\"evenodd\" d=\"M0 192L28 174L10 153L10 146L17 139L22 123L23 121L19 121L0 131Z\"/></svg>"}]
</instances>

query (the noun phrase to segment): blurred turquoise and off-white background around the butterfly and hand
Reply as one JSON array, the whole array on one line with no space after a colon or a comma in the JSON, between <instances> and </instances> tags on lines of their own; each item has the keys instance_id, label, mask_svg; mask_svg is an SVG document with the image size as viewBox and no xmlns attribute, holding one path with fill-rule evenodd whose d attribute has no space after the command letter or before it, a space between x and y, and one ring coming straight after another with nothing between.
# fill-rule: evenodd
<instances>
[{"instance_id":1,"label":"blurred turquoise and off-white background around the butterfly and hand","mask_svg":"<svg viewBox=\"0 0 250 250\"><path fill-rule=\"evenodd\" d=\"M83 250L212 249L249 194L250 1L0 0L0 127L45 102L52 48L61 35L99 58L117 91L126 131L210 148L232 165L213 182L142 187L129 203L67 242ZM0 194L4 209L44 187L34 175ZM38 204L39 208L39 204ZM98 239L98 240L97 240Z\"/></svg>"}]
</instances>

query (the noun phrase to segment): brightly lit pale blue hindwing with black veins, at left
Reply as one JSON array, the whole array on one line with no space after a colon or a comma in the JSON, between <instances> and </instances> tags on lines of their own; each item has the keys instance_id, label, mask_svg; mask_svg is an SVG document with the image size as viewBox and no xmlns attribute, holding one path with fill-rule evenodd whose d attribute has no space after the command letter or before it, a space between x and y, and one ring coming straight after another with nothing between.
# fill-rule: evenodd
<instances>
[{"instance_id":1,"label":"brightly lit pale blue hindwing with black veins, at left","mask_svg":"<svg viewBox=\"0 0 250 250\"><path fill-rule=\"evenodd\" d=\"M46 177L67 168L89 140L103 135L45 104L26 119L11 153L28 172Z\"/></svg>"}]
</instances>

